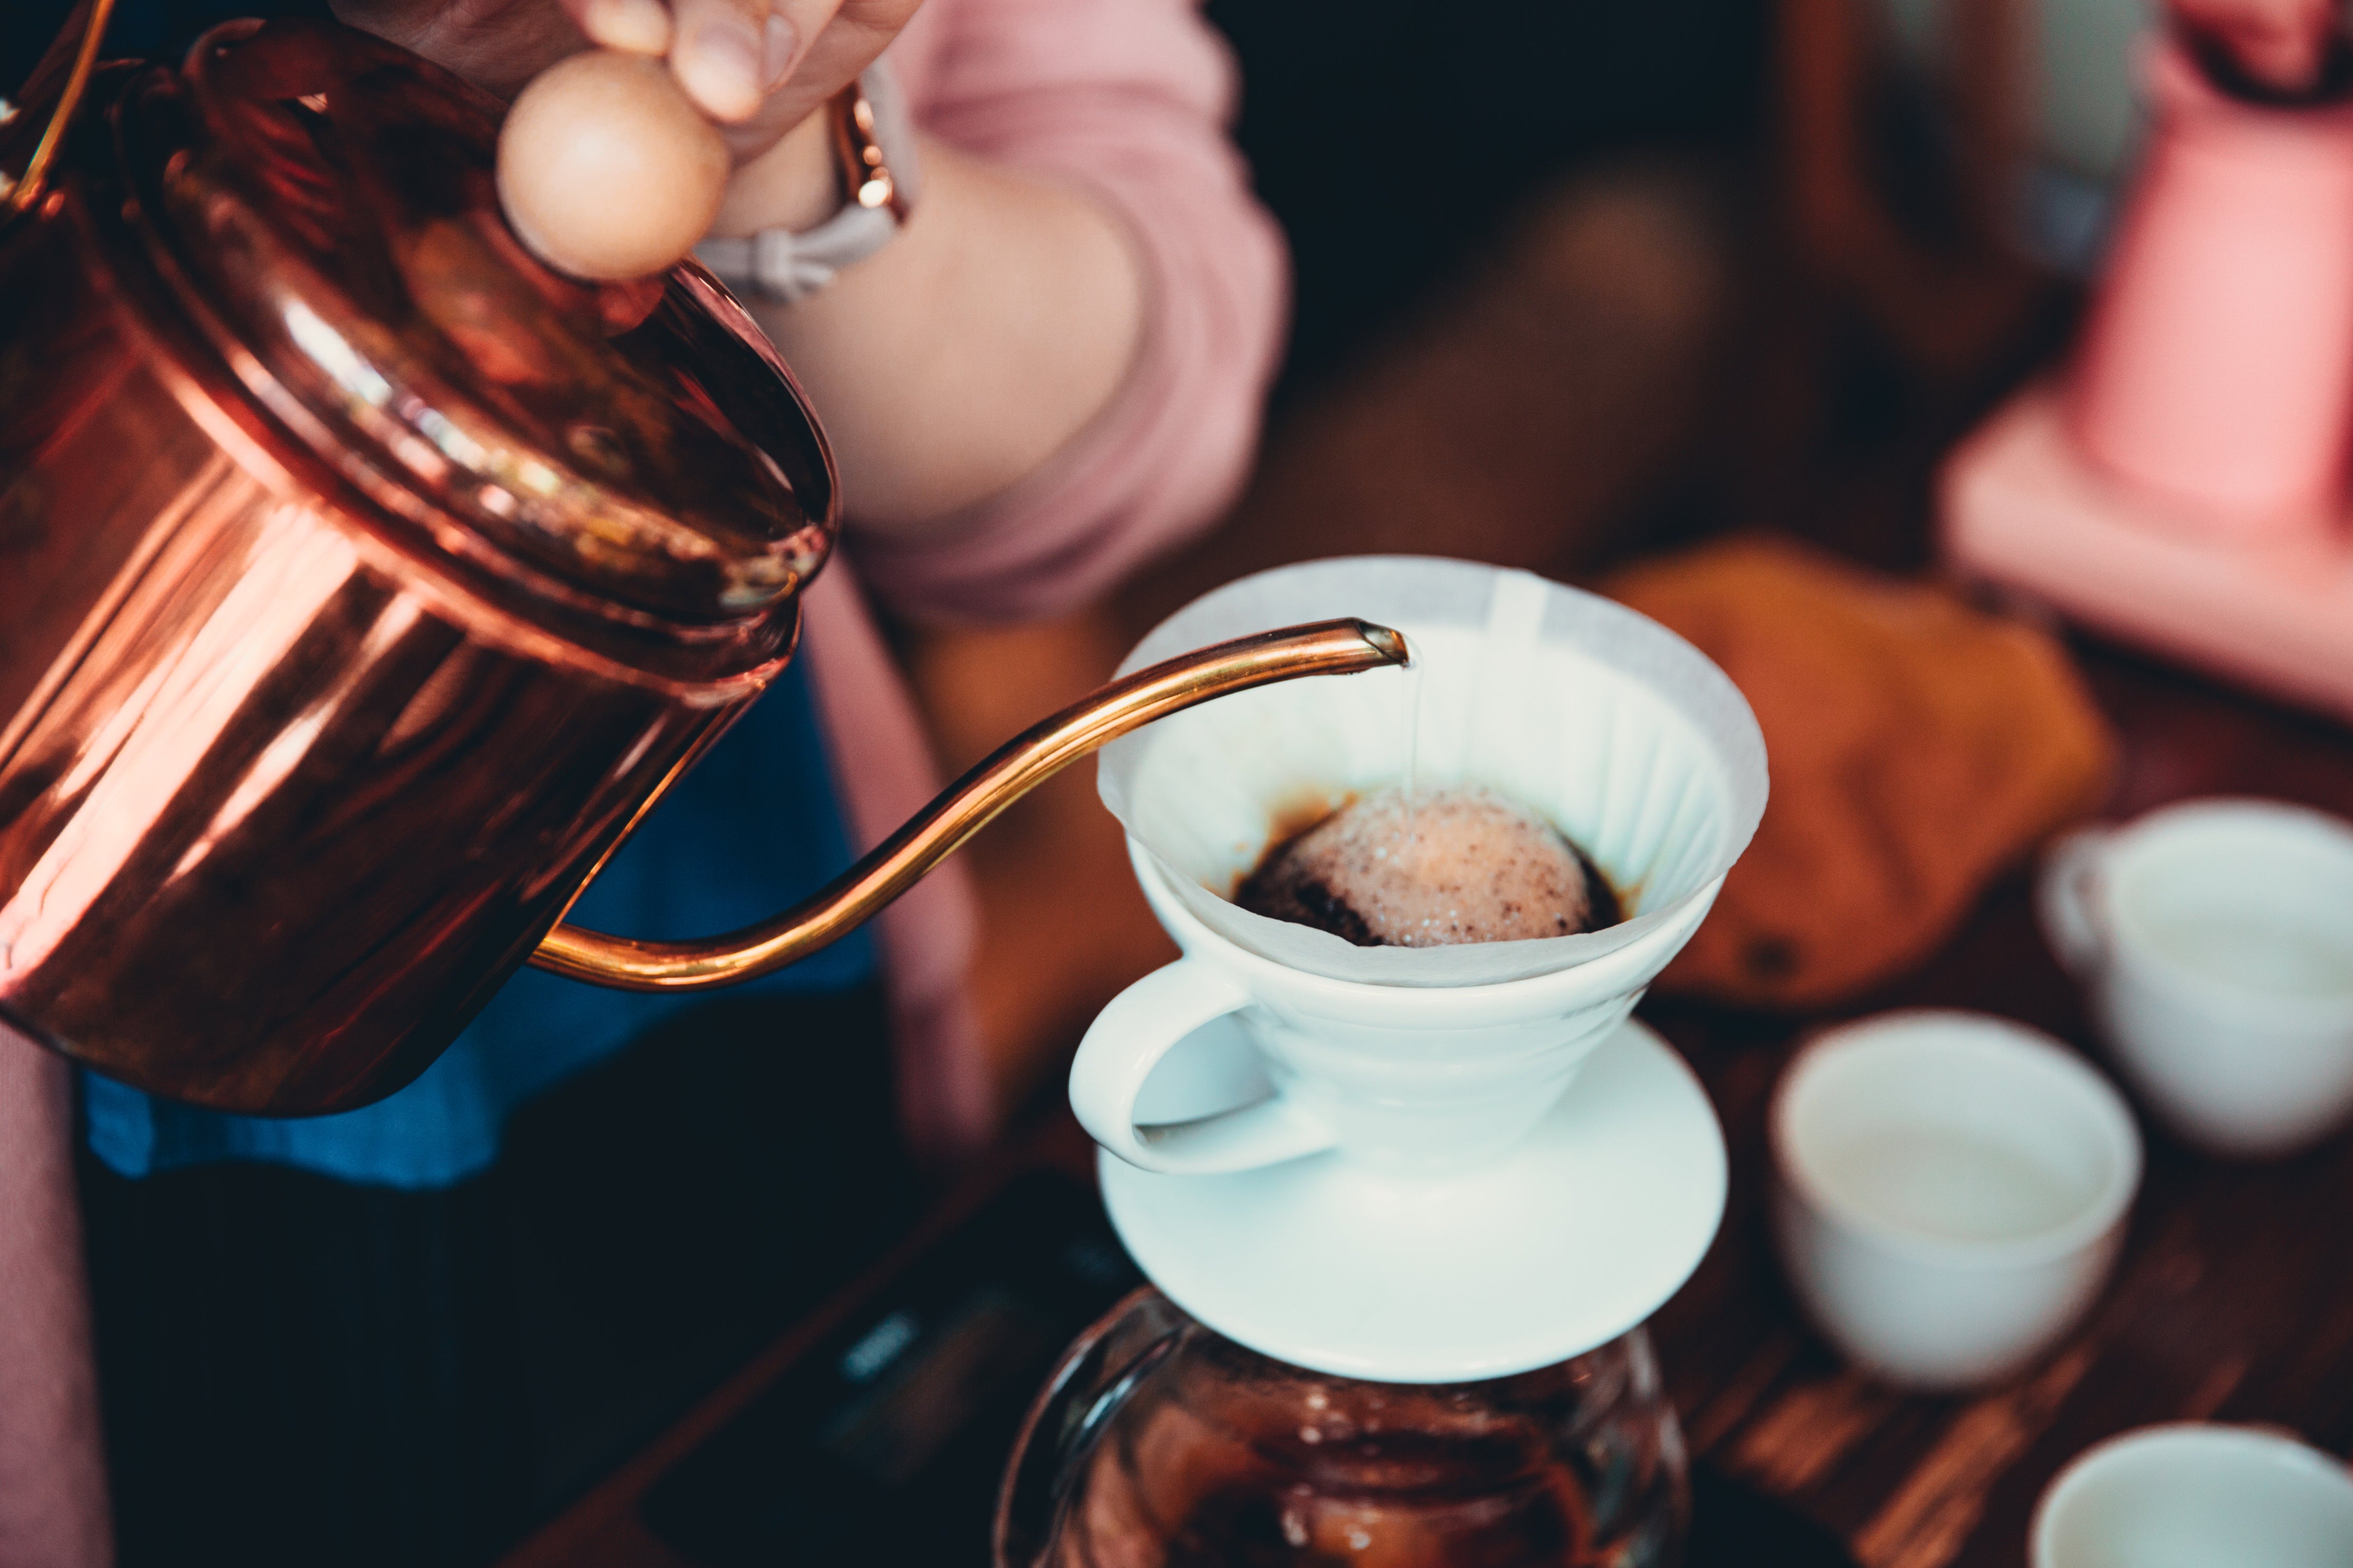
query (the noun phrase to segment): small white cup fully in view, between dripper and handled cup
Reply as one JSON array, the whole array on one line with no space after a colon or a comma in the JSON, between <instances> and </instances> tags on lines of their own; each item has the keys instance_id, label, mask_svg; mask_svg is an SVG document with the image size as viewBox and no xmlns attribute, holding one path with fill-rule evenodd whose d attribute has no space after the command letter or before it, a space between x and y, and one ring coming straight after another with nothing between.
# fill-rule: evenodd
<instances>
[{"instance_id":1,"label":"small white cup fully in view, between dripper and handled cup","mask_svg":"<svg viewBox=\"0 0 2353 1568\"><path fill-rule=\"evenodd\" d=\"M2073 1328L2141 1180L2122 1095L2059 1041L1981 1013L1817 1037L1774 1091L1772 1154L1800 1305L1908 1387L2000 1378Z\"/></svg>"}]
</instances>

